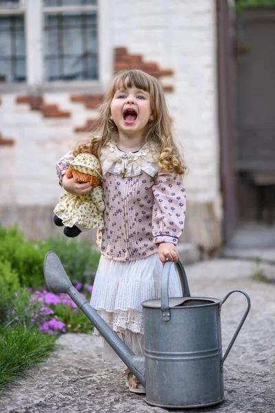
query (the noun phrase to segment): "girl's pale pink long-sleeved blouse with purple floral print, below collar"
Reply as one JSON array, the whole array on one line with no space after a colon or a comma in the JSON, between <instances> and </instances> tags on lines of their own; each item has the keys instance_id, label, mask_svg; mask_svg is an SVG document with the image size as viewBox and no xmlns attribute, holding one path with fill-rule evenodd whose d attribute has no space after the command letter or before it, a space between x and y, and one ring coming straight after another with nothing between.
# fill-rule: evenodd
<instances>
[{"instance_id":1,"label":"girl's pale pink long-sleeved blouse with purple floral print, below collar","mask_svg":"<svg viewBox=\"0 0 275 413\"><path fill-rule=\"evenodd\" d=\"M73 158L72 152L68 152L57 164L61 184ZM127 167L131 168L131 156L128 158ZM118 164L118 160L115 162ZM186 215L183 176L159 168L156 171L155 162L153 168L151 165L152 160L148 161L148 168L139 169L135 176L123 178L122 168L118 167L103 174L105 228L98 231L98 246L104 257L140 260L156 253L159 242L177 244ZM119 174L115 170L120 170Z\"/></svg>"}]
</instances>

